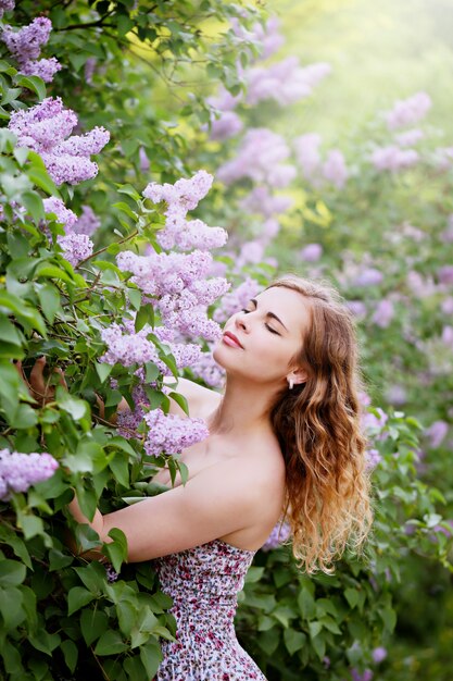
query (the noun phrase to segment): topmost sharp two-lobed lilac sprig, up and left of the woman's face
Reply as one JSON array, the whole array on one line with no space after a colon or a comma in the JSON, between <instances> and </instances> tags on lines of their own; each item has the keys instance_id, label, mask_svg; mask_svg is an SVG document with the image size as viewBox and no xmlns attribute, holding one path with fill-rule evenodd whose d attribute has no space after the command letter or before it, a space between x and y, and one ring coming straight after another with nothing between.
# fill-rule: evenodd
<instances>
[{"instance_id":1,"label":"topmost sharp two-lobed lilac sprig, up and left of the woman's face","mask_svg":"<svg viewBox=\"0 0 453 681\"><path fill-rule=\"evenodd\" d=\"M226 244L228 235L222 227L209 227L201 220L186 220L188 211L197 208L206 196L212 182L213 176L201 170L190 179L181 177L174 185L152 182L146 187L143 196L147 199L153 203L166 203L165 227L158 233L162 248L212 250Z\"/></svg>"}]
</instances>

